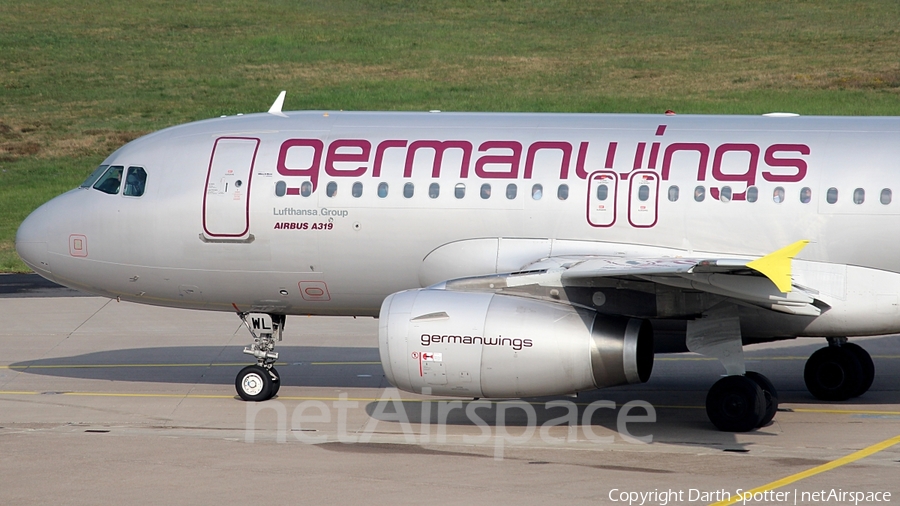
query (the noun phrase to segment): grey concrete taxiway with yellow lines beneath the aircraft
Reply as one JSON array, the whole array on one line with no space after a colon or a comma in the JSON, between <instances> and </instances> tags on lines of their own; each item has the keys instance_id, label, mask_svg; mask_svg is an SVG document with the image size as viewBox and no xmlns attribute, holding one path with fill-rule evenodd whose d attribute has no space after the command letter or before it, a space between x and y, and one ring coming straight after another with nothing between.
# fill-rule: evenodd
<instances>
[{"instance_id":1,"label":"grey concrete taxiway with yellow lines beneath the aircraft","mask_svg":"<svg viewBox=\"0 0 900 506\"><path fill-rule=\"evenodd\" d=\"M0 504L711 504L756 487L788 495L748 504L900 501L898 336L858 341L877 377L846 403L803 384L824 340L747 347L781 411L728 434L703 409L723 369L692 354L657 356L640 386L454 404L390 389L377 320L289 317L283 386L254 404L235 396L250 362L235 315L39 289L0 294Z\"/></svg>"}]
</instances>

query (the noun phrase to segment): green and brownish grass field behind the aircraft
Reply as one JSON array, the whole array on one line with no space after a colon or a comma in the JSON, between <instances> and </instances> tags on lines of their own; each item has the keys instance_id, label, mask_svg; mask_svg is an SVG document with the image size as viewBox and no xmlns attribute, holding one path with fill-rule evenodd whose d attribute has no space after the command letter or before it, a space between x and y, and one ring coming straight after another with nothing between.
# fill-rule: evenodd
<instances>
[{"instance_id":1,"label":"green and brownish grass field behind the aircraft","mask_svg":"<svg viewBox=\"0 0 900 506\"><path fill-rule=\"evenodd\" d=\"M286 109L900 114L900 2L0 0L0 271L140 134Z\"/></svg>"}]
</instances>

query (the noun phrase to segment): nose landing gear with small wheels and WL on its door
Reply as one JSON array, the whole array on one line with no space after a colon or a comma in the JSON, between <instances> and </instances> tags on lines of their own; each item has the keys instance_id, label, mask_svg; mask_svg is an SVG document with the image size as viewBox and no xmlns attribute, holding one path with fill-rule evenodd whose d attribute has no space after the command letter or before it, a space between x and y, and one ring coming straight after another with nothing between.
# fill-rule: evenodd
<instances>
[{"instance_id":1,"label":"nose landing gear with small wheels and WL on its door","mask_svg":"<svg viewBox=\"0 0 900 506\"><path fill-rule=\"evenodd\" d=\"M278 353L274 350L276 336L281 341L285 316L266 313L238 313L238 316L253 335L253 344L244 348L244 353L256 357L256 364L241 369L234 388L245 401L269 400L281 388L281 377L274 367Z\"/></svg>"}]
</instances>

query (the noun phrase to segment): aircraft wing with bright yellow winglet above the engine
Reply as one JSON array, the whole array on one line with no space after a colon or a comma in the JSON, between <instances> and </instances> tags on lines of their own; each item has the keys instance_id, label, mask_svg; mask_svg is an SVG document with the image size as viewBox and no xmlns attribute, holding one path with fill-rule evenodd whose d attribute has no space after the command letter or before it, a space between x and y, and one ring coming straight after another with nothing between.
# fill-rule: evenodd
<instances>
[{"instance_id":1,"label":"aircraft wing with bright yellow winglet above the engine","mask_svg":"<svg viewBox=\"0 0 900 506\"><path fill-rule=\"evenodd\" d=\"M818 316L828 305L815 298L815 290L791 282L791 260L808 242L798 241L757 259L550 257L518 272L455 279L439 287L505 292L586 306L598 305L596 289L612 288L637 294L630 302L618 304L617 311L623 314L646 313L641 306L646 306L648 299L640 294L652 295L656 306L663 300L663 307L657 308L663 314L656 316L694 313L692 304L684 303L685 295L700 293L788 314ZM590 300L585 289L593 292ZM606 296L602 297L605 300ZM670 299L672 304L666 302Z\"/></svg>"}]
</instances>

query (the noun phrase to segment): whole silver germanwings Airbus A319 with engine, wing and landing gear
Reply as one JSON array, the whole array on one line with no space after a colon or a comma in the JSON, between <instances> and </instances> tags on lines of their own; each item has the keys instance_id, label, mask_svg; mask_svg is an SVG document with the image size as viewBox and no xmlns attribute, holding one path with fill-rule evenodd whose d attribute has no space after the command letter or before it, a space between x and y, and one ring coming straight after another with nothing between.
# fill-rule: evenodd
<instances>
[{"instance_id":1,"label":"whole silver germanwings Airbus A319 with engine, wing and landing gear","mask_svg":"<svg viewBox=\"0 0 900 506\"><path fill-rule=\"evenodd\" d=\"M19 255L78 290L237 312L248 401L278 392L286 315L375 316L403 390L571 394L691 350L726 372L710 420L747 431L778 399L743 345L827 339L806 384L845 400L875 375L848 337L900 332L897 118L283 101L126 144L22 223Z\"/></svg>"}]
</instances>

